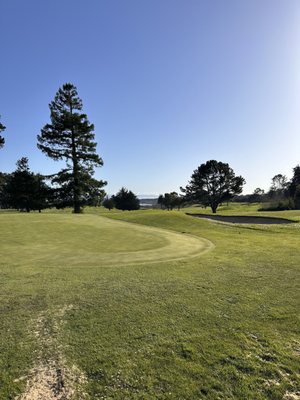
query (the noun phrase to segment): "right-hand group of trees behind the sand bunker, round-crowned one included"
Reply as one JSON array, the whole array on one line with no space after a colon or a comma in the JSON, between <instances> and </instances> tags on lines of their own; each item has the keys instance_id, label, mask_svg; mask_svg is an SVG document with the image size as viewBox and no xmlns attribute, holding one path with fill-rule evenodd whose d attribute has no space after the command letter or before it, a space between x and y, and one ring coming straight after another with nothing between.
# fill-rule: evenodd
<instances>
[{"instance_id":1,"label":"right-hand group of trees behind the sand bunker, round-crowned one included","mask_svg":"<svg viewBox=\"0 0 300 400\"><path fill-rule=\"evenodd\" d=\"M186 187L181 187L182 196L176 192L160 196L161 204L172 209L176 204L198 203L209 206L216 213L220 204L230 200L239 202L264 202L261 210L300 209L300 166L293 169L293 177L289 181L285 175L277 174L267 193L256 188L251 195L241 195L246 183L242 176L235 176L233 169L227 164L209 160L194 170ZM171 204L171 206L169 206Z\"/></svg>"}]
</instances>

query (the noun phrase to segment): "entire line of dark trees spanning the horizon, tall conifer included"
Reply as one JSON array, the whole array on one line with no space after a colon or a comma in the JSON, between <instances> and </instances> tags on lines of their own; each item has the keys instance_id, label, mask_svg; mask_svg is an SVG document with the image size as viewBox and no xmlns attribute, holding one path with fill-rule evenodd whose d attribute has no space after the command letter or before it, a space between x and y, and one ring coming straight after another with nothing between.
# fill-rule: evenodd
<instances>
[{"instance_id":1,"label":"entire line of dark trees spanning the horizon, tall conifer included","mask_svg":"<svg viewBox=\"0 0 300 400\"><path fill-rule=\"evenodd\" d=\"M136 195L126 188L112 196L105 197L106 181L94 178L96 167L103 165L96 152L94 125L82 112L82 100L76 87L64 84L49 104L50 122L37 135L37 147L54 161L65 161L59 172L43 176L30 171L28 158L17 161L16 170L11 174L0 173L0 206L19 210L39 210L47 207L73 207L80 213L84 206L103 204L111 209L136 210L140 207ZM0 123L0 134L5 126ZM0 148L5 140L0 135ZM291 181L278 174L272 179L270 190L265 193L255 189L252 195L241 195L245 179L236 176L227 163L209 160L192 173L182 194L165 193L158 197L161 208L180 209L190 203L210 207L216 213L220 204L237 201L269 201L264 209L300 208L300 166L294 168Z\"/></svg>"}]
</instances>

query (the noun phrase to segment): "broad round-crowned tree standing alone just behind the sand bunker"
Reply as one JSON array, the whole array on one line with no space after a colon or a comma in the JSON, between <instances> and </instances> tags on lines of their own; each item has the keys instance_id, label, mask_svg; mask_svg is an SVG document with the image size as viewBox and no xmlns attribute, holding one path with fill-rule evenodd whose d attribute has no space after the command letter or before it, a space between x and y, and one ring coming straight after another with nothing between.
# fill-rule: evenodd
<instances>
[{"instance_id":1,"label":"broad round-crowned tree standing alone just behind the sand bunker","mask_svg":"<svg viewBox=\"0 0 300 400\"><path fill-rule=\"evenodd\" d=\"M187 200L210 206L216 213L218 206L242 192L245 179L235 176L228 164L216 160L207 161L194 170L189 184L181 190Z\"/></svg>"}]
</instances>

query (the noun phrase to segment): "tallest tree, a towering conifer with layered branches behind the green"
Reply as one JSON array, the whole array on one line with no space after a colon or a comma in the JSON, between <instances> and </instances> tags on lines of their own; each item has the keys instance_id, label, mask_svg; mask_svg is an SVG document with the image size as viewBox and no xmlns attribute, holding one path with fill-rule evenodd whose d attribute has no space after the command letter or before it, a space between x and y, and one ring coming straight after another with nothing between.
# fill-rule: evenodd
<instances>
[{"instance_id":1,"label":"tallest tree, a towering conifer with layered branches behind the green","mask_svg":"<svg viewBox=\"0 0 300 400\"><path fill-rule=\"evenodd\" d=\"M66 203L71 198L74 213L79 213L93 196L90 190L100 190L106 184L96 184L92 178L94 168L103 165L96 153L94 125L81 113L82 101L71 83L58 90L49 108L51 124L41 130L37 146L53 160L66 161L67 168L57 174L54 183L61 188L60 197L62 193L68 194Z\"/></svg>"}]
</instances>

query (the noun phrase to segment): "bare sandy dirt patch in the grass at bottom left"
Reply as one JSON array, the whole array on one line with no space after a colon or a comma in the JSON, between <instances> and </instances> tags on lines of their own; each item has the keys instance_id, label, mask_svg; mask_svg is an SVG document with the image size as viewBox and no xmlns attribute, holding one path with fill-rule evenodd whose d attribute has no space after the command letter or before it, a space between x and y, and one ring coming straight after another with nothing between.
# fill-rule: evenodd
<instances>
[{"instance_id":1,"label":"bare sandy dirt patch in the grass at bottom left","mask_svg":"<svg viewBox=\"0 0 300 400\"><path fill-rule=\"evenodd\" d=\"M80 391L86 379L77 367L67 365L58 341L63 317L71 308L63 307L52 315L41 313L33 321L39 346L37 360L26 377L24 393L15 400L71 400L75 394L80 399L86 398L86 394Z\"/></svg>"}]
</instances>

